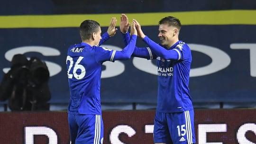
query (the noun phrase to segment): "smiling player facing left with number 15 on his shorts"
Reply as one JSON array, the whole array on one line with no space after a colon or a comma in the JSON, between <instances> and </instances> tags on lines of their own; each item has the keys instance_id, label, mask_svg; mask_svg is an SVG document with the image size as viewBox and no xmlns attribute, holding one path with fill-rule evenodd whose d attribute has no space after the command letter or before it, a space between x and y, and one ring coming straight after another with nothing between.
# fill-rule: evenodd
<instances>
[{"instance_id":1,"label":"smiling player facing left with number 15 on his shorts","mask_svg":"<svg viewBox=\"0 0 256 144\"><path fill-rule=\"evenodd\" d=\"M138 48L132 56L156 59L158 71L157 108L154 120L155 144L195 144L194 111L189 93L189 73L192 62L190 47L179 40L181 23L178 18L165 17L159 21L160 44L145 36L137 20L137 35L149 45ZM129 22L121 16L120 31L125 44L129 41Z\"/></svg>"}]
</instances>

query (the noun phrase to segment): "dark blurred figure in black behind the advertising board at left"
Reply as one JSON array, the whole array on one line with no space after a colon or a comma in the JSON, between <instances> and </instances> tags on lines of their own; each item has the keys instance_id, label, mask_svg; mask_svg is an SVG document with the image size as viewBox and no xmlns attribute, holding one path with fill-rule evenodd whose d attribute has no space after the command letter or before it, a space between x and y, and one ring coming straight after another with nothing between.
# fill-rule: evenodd
<instances>
[{"instance_id":1,"label":"dark blurred figure in black behind the advertising board at left","mask_svg":"<svg viewBox=\"0 0 256 144\"><path fill-rule=\"evenodd\" d=\"M37 57L27 60L24 54L16 54L11 60L11 69L0 83L0 101L8 99L11 111L49 110L49 77L45 62Z\"/></svg>"}]
</instances>

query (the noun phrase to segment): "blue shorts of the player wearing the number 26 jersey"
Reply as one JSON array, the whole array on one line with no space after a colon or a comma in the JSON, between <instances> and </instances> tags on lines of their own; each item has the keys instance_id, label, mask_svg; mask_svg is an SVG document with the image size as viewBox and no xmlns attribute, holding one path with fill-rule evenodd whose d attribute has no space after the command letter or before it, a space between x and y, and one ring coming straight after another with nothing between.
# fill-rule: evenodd
<instances>
[{"instance_id":1,"label":"blue shorts of the player wearing the number 26 jersey","mask_svg":"<svg viewBox=\"0 0 256 144\"><path fill-rule=\"evenodd\" d=\"M71 144L102 144L103 121L101 115L68 114Z\"/></svg>"}]
</instances>

